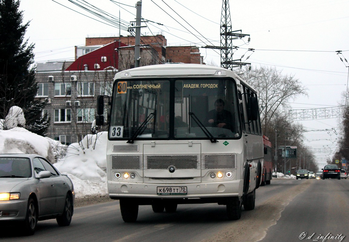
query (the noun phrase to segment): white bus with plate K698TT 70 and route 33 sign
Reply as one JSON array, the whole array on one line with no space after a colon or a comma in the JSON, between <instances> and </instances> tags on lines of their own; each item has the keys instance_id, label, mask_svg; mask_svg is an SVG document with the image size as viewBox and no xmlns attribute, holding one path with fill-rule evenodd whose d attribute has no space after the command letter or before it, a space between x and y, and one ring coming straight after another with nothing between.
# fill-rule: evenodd
<instances>
[{"instance_id":1,"label":"white bus with plate K698TT 70 and route 33 sign","mask_svg":"<svg viewBox=\"0 0 349 242\"><path fill-rule=\"evenodd\" d=\"M256 91L233 71L169 64L121 71L110 113L97 101L97 125L109 125L107 187L122 219L139 205L175 212L178 204L227 206L229 220L254 209L263 137ZM106 120L106 122L104 122Z\"/></svg>"}]
</instances>

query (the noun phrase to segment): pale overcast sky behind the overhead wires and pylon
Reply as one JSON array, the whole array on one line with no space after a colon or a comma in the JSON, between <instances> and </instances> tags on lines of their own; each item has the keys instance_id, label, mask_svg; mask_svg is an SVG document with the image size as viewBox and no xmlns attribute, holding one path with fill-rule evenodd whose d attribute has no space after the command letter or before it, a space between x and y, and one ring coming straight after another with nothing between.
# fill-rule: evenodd
<instances>
[{"instance_id":1,"label":"pale overcast sky behind the overhead wires and pylon","mask_svg":"<svg viewBox=\"0 0 349 242\"><path fill-rule=\"evenodd\" d=\"M90 3L109 16L120 16L121 30L118 24L106 24L106 21L76 7L72 1L86 6ZM121 7L117 2L122 3ZM31 20L26 37L29 43L35 43L35 61L72 60L74 46L83 46L87 36L107 37L119 35L119 32L127 35L127 25L135 21L136 2L21 0L24 21ZM239 46L234 53L235 59L244 55L242 61L252 63L253 67L275 66L284 75L295 75L308 89L309 96L293 100L293 109L338 106L348 83L346 66L349 64L344 60L349 61L348 0L230 0L229 5L232 30L242 30L251 36L249 43L247 38L233 41L233 45ZM219 46L221 14L221 0L143 0L142 17L153 22L142 24L148 26L142 29L142 34L162 33L168 45ZM248 48L255 51L247 52ZM336 51L342 52L338 55ZM200 52L205 62L220 64L219 52L205 48L200 48ZM332 157L340 138L339 120L300 123L306 130L336 130L305 133L304 144L314 148L322 166L327 157Z\"/></svg>"}]
</instances>

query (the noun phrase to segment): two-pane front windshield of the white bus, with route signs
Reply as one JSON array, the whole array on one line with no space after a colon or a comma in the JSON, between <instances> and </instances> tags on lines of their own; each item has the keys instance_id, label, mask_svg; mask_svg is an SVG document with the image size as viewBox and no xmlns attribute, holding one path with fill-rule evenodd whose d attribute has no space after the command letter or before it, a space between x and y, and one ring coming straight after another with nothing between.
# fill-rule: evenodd
<instances>
[{"instance_id":1,"label":"two-pane front windshield of the white bus, with route signs","mask_svg":"<svg viewBox=\"0 0 349 242\"><path fill-rule=\"evenodd\" d=\"M239 138L233 79L116 80L109 138Z\"/></svg>"}]
</instances>

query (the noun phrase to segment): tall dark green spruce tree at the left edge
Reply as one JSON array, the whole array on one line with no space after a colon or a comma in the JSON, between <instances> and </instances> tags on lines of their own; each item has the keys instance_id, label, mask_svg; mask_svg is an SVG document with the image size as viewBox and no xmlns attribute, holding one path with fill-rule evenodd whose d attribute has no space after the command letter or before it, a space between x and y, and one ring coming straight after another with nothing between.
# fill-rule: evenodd
<instances>
[{"instance_id":1,"label":"tall dark green spruce tree at the left edge","mask_svg":"<svg viewBox=\"0 0 349 242\"><path fill-rule=\"evenodd\" d=\"M49 127L47 116L42 118L45 102L35 99L35 45L24 40L30 21L23 24L19 6L19 0L0 0L0 119L5 119L10 107L21 107L25 128L45 136Z\"/></svg>"}]
</instances>

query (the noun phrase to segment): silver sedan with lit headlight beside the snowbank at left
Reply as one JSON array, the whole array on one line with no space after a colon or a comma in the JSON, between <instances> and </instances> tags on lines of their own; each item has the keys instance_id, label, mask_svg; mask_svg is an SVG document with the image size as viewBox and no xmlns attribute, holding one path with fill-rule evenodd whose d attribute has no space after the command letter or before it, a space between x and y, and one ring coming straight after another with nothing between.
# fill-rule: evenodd
<instances>
[{"instance_id":1,"label":"silver sedan with lit headlight beside the snowbank at left","mask_svg":"<svg viewBox=\"0 0 349 242\"><path fill-rule=\"evenodd\" d=\"M37 221L72 221L75 193L72 181L37 154L0 154L0 226L16 222L26 235Z\"/></svg>"}]
</instances>

